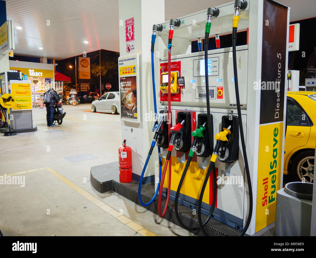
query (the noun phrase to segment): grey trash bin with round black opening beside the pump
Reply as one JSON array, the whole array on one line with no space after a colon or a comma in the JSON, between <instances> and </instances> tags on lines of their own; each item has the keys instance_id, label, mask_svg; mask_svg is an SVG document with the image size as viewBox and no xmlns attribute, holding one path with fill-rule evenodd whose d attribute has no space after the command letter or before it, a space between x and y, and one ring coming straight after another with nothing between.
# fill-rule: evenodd
<instances>
[{"instance_id":1,"label":"grey trash bin with round black opening beside the pump","mask_svg":"<svg viewBox=\"0 0 316 258\"><path fill-rule=\"evenodd\" d=\"M310 236L313 184L287 183L276 192L275 236Z\"/></svg>"}]
</instances>

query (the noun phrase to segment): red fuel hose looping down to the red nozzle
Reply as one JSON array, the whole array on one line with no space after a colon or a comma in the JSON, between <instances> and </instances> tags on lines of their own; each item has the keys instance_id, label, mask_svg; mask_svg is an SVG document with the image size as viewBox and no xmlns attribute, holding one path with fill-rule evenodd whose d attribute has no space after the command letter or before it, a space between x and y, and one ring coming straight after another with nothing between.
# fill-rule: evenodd
<instances>
[{"instance_id":1,"label":"red fuel hose looping down to the red nozzle","mask_svg":"<svg viewBox=\"0 0 316 258\"><path fill-rule=\"evenodd\" d=\"M173 31L172 31L173 32ZM170 32L169 32L170 33ZM169 47L169 46L168 46ZM168 49L168 135L169 135L169 142L170 142L170 128L171 128L171 45ZM170 149L170 146L169 146ZM169 152L168 149L168 152ZM172 148L171 150L172 151ZM166 157L167 158L167 157ZM169 175L168 175L168 192L167 192L167 200L166 200L166 206L163 210L163 213L161 214L161 197L162 197L162 189L163 189L163 183L165 181L167 166L169 163L169 159L166 159L165 168L163 169L163 173L161 175L161 182L160 182L160 189L159 189L159 198L158 198L158 214L159 217L163 218L166 215L168 204L169 204L169 197L170 197L170 188L171 188L171 152L170 152L170 164L169 164Z\"/></svg>"}]
</instances>

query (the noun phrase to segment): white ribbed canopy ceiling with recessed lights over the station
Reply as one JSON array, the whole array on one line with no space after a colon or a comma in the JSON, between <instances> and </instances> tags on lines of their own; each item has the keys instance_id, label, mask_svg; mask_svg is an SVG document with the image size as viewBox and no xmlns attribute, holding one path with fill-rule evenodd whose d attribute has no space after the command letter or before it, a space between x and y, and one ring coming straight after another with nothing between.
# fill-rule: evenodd
<instances>
[{"instance_id":1,"label":"white ribbed canopy ceiling with recessed lights over the station","mask_svg":"<svg viewBox=\"0 0 316 258\"><path fill-rule=\"evenodd\" d=\"M229 2L165 0L165 20ZM291 8L291 21L316 16L315 0L277 2ZM15 28L22 27L15 29L16 55L61 60L83 51L119 51L118 0L7 0L6 6L7 20L14 20Z\"/></svg>"}]
</instances>

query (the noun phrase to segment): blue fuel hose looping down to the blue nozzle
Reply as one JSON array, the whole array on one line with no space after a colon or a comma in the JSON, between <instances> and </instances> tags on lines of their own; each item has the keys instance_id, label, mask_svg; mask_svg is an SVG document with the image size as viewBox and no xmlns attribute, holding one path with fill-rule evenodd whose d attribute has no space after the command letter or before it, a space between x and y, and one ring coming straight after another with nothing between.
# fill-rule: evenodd
<instances>
[{"instance_id":1,"label":"blue fuel hose looping down to the blue nozzle","mask_svg":"<svg viewBox=\"0 0 316 258\"><path fill-rule=\"evenodd\" d=\"M152 73L152 80L153 80L153 95L154 95L154 109L155 109L155 116L157 114L157 103L156 103L156 87L155 87L155 67L154 67L154 44L155 44L155 40L156 40L156 35L151 35L151 73ZM155 200L155 198L157 197L158 191L159 191L159 187L160 187L160 181L161 181L161 158L159 157L159 182L157 185L157 189L156 192L153 196L153 198L146 204L143 203L142 201L142 196L141 196L141 190L142 190L142 182L143 182L143 177L145 174L145 170L147 168L147 164L149 162L149 158L151 156L151 153L156 145L156 139L155 137L158 137L158 135L154 136L154 140L151 142L151 146L148 152L148 156L145 162L145 165L143 167L143 171L142 171L142 175L140 176L139 179L139 185L138 185L138 200L140 202L140 204L142 204L143 206L149 206L150 204L153 203L153 201ZM157 146L158 147L158 146ZM158 147L158 153L160 153L160 147Z\"/></svg>"}]
</instances>

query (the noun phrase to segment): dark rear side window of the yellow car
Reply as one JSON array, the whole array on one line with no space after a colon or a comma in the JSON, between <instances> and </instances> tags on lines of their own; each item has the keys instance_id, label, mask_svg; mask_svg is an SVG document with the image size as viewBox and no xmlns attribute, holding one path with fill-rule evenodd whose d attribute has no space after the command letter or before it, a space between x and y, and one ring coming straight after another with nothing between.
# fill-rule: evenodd
<instances>
[{"instance_id":1,"label":"dark rear side window of the yellow car","mask_svg":"<svg viewBox=\"0 0 316 258\"><path fill-rule=\"evenodd\" d=\"M310 126L309 118L304 109L293 99L287 99L288 125Z\"/></svg>"}]
</instances>

